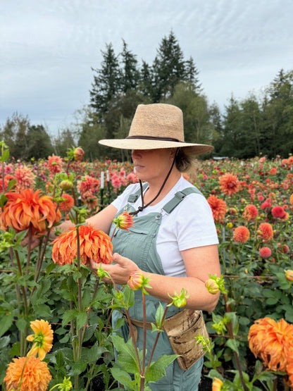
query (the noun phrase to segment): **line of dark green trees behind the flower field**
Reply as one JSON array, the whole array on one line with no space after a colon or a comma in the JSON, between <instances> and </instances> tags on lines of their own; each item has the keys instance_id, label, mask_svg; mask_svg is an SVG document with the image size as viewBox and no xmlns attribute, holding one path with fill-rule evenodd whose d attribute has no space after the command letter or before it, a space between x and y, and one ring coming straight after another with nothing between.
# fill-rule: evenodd
<instances>
[{"instance_id":1,"label":"line of dark green trees behind the flower field","mask_svg":"<svg viewBox=\"0 0 293 391\"><path fill-rule=\"evenodd\" d=\"M286 158L293 153L293 70L281 69L261 96L248 94L241 100L231 96L220 113L204 94L194 59L185 59L172 31L161 40L151 64L139 63L124 39L120 53L110 43L101 54L99 68L92 68L89 104L76 111L70 127L51 137L43 125L30 125L29 118L17 112L0 125L0 139L11 156L66 156L68 148L78 145L89 160L130 161L129 151L107 149L98 140L126 137L137 105L158 102L182 109L186 142L215 147L204 157Z\"/></svg>"}]
</instances>

